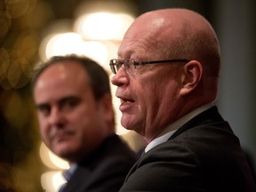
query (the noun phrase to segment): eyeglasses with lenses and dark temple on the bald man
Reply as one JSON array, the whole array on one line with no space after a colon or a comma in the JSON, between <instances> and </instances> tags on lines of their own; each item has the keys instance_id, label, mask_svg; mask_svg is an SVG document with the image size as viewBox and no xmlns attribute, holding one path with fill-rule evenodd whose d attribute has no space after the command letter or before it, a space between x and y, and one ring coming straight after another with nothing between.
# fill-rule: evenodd
<instances>
[{"instance_id":1,"label":"eyeglasses with lenses and dark temple on the bald man","mask_svg":"<svg viewBox=\"0 0 256 192\"><path fill-rule=\"evenodd\" d=\"M134 59L126 59L126 60L110 60L109 66L111 71L116 74L117 71L124 65L125 70L130 74L134 74L138 67L145 64L156 64L156 63L173 63L173 62L188 62L189 60L153 60L153 61L136 61Z\"/></svg>"}]
</instances>

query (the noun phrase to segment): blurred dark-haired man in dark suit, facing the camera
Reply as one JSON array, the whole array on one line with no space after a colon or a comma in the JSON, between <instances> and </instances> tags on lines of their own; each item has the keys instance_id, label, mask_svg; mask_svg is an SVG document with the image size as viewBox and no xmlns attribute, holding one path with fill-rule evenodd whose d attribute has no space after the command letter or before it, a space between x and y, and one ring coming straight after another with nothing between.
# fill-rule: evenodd
<instances>
[{"instance_id":1,"label":"blurred dark-haired man in dark suit, facing the camera","mask_svg":"<svg viewBox=\"0 0 256 192\"><path fill-rule=\"evenodd\" d=\"M42 139L70 163L60 191L118 191L136 156L115 133L106 71L82 56L56 56L32 83Z\"/></svg>"}]
</instances>

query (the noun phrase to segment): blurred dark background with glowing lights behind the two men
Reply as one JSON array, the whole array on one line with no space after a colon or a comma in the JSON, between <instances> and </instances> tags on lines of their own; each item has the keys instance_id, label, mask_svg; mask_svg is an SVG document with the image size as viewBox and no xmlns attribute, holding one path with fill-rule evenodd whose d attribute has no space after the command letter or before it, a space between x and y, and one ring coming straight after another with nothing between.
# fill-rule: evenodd
<instances>
[{"instance_id":1,"label":"blurred dark background with glowing lights behind the two men","mask_svg":"<svg viewBox=\"0 0 256 192\"><path fill-rule=\"evenodd\" d=\"M39 137L30 74L56 54L82 53L106 70L124 31L143 12L183 7L200 12L220 38L217 105L256 165L255 0L0 0L0 191L54 192L67 162ZM115 87L112 87L115 92ZM144 142L119 124L134 150ZM225 145L225 143L223 143Z\"/></svg>"}]
</instances>

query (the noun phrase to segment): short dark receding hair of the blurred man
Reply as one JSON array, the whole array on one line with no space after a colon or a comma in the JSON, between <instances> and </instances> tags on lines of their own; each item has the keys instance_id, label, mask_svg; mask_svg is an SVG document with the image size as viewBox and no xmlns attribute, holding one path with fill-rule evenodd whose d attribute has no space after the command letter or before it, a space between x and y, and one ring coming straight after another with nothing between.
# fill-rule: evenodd
<instances>
[{"instance_id":1,"label":"short dark receding hair of the blurred man","mask_svg":"<svg viewBox=\"0 0 256 192\"><path fill-rule=\"evenodd\" d=\"M73 61L77 64L80 64L87 72L88 76L90 77L90 83L92 86L92 92L94 94L95 100L100 100L107 92L110 93L109 78L106 70L94 60L91 60L85 56L78 56L76 54L53 56L50 60L47 60L46 62L36 66L31 79L32 89L34 90L38 77L46 68L58 62L67 61Z\"/></svg>"}]
</instances>

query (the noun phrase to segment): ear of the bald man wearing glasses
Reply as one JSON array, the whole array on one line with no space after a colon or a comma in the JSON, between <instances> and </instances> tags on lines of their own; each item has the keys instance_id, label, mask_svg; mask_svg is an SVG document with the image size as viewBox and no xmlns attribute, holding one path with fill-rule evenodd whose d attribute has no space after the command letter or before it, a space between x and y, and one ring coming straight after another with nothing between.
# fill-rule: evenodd
<instances>
[{"instance_id":1,"label":"ear of the bald man wearing glasses","mask_svg":"<svg viewBox=\"0 0 256 192\"><path fill-rule=\"evenodd\" d=\"M185 96L196 89L203 76L203 67L197 60L190 60L183 68L180 95Z\"/></svg>"}]
</instances>

